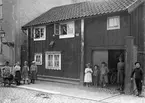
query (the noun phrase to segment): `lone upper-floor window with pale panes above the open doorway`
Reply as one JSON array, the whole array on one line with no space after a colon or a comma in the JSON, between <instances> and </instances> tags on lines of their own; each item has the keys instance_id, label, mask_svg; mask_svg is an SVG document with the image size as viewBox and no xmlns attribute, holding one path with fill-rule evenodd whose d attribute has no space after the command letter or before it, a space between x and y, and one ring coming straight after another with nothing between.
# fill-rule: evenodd
<instances>
[{"instance_id":1,"label":"lone upper-floor window with pale panes above the open doorway","mask_svg":"<svg viewBox=\"0 0 145 103\"><path fill-rule=\"evenodd\" d=\"M120 29L119 16L108 17L107 19L107 30L113 30L113 29Z\"/></svg>"}]
</instances>

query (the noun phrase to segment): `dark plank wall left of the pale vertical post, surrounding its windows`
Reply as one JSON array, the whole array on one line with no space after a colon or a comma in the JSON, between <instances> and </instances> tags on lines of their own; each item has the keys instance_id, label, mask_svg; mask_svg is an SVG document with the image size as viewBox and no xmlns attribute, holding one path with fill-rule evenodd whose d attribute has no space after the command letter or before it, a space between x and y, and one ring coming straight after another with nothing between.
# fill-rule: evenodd
<instances>
[{"instance_id":1,"label":"dark plank wall left of the pale vertical post, surrounding its windows","mask_svg":"<svg viewBox=\"0 0 145 103\"><path fill-rule=\"evenodd\" d=\"M75 21L75 33L80 34L80 20ZM31 35L30 35L31 34ZM59 39L53 37L54 25L46 25L46 40L34 41L29 28L29 62L34 60L35 53L42 53L42 65L38 66L38 75L55 76L65 78L80 78L80 36L75 38ZM51 47L51 41L55 45ZM61 52L61 70L45 69L45 52L60 51Z\"/></svg>"}]
</instances>

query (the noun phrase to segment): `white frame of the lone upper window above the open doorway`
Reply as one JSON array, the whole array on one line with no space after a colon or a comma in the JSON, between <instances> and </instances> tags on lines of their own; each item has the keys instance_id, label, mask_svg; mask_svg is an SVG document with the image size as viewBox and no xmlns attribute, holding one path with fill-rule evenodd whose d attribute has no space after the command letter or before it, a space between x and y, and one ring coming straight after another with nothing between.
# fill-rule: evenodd
<instances>
[{"instance_id":1,"label":"white frame of the lone upper window above the open doorway","mask_svg":"<svg viewBox=\"0 0 145 103\"><path fill-rule=\"evenodd\" d=\"M110 26L110 20L111 19L117 19L117 25L116 26ZM120 16L112 16L107 18L107 30L115 30L120 29Z\"/></svg>"}]
</instances>

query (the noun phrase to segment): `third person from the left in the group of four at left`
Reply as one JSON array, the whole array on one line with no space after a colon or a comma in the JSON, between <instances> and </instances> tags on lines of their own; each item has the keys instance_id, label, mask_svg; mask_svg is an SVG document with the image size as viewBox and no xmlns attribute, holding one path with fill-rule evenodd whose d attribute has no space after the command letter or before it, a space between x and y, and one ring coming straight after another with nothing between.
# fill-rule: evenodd
<instances>
[{"instance_id":1,"label":"third person from the left in the group of four at left","mask_svg":"<svg viewBox=\"0 0 145 103\"><path fill-rule=\"evenodd\" d=\"M28 67L27 61L24 62L24 66L22 68L22 79L23 79L24 84L26 81L29 84L29 67Z\"/></svg>"}]
</instances>

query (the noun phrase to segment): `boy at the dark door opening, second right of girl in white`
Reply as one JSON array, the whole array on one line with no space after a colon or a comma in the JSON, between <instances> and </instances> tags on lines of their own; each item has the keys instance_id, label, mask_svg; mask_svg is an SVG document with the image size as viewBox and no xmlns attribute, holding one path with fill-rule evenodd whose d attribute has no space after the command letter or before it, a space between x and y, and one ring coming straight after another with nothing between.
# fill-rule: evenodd
<instances>
[{"instance_id":1,"label":"boy at the dark door opening, second right of girl in white","mask_svg":"<svg viewBox=\"0 0 145 103\"><path fill-rule=\"evenodd\" d=\"M100 84L102 87L105 87L106 84L108 83L108 67L105 62L101 63L101 68L100 68Z\"/></svg>"}]
</instances>

